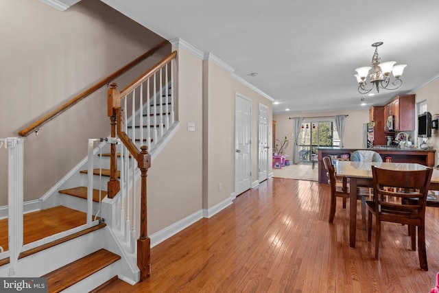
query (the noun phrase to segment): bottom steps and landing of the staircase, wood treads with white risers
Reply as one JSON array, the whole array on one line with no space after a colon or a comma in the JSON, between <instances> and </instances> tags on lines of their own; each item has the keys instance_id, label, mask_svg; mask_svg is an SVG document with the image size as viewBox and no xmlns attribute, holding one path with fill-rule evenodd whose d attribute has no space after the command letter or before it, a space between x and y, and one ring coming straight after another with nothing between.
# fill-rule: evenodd
<instances>
[{"instance_id":1,"label":"bottom steps and landing of the staircase, wood treads with white risers","mask_svg":"<svg viewBox=\"0 0 439 293\"><path fill-rule=\"evenodd\" d=\"M0 220L2 229L7 221ZM117 268L118 261L120 262L121 257L102 248L107 245L104 239L108 237L105 223L51 241L52 235L84 224L86 214L58 206L27 213L23 222L24 244L28 247L33 245L34 248L20 254L14 267L15 274L11 277L32 277L37 272L38 277L48 278L48 292L88 292L95 288L96 283L104 283L117 275L120 269ZM41 244L43 239L46 241ZM1 239L2 245L4 241L7 242L7 239ZM84 243L87 245L84 246ZM10 274L8 264L8 258L1 259L2 276Z\"/></svg>"}]
</instances>

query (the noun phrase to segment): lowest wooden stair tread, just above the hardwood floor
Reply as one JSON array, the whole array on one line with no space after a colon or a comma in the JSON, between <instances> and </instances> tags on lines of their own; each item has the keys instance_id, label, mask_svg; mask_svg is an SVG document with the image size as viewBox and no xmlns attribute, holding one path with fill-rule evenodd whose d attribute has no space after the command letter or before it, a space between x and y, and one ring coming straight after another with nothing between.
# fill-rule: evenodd
<instances>
[{"instance_id":1,"label":"lowest wooden stair tread, just above the hardwood floor","mask_svg":"<svg viewBox=\"0 0 439 293\"><path fill-rule=\"evenodd\" d=\"M119 259L120 255L101 248L42 277L47 278L49 292L61 292Z\"/></svg>"}]
</instances>

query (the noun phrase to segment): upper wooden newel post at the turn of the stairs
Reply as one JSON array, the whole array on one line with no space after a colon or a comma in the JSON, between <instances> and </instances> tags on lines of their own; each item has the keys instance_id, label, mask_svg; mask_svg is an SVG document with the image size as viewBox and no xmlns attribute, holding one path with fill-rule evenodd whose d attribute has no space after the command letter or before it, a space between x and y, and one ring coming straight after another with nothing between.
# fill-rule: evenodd
<instances>
[{"instance_id":1,"label":"upper wooden newel post at the turn of the stairs","mask_svg":"<svg viewBox=\"0 0 439 293\"><path fill-rule=\"evenodd\" d=\"M114 198L120 189L120 183L117 178L117 154L115 139L117 134L116 114L121 108L120 93L117 89L117 84L114 82L110 84L110 89L108 89L107 92L107 108L108 117L110 117L111 137L113 139L110 145L110 180L107 184L107 190L108 198Z\"/></svg>"}]
</instances>

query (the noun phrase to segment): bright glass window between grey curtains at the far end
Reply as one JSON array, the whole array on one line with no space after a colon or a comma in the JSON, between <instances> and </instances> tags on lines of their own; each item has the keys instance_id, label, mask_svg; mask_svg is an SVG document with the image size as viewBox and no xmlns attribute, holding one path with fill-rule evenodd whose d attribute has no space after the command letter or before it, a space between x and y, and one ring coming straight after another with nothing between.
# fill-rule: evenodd
<instances>
[{"instance_id":1,"label":"bright glass window between grey curtains at the far end","mask_svg":"<svg viewBox=\"0 0 439 293\"><path fill-rule=\"evenodd\" d=\"M338 147L340 138L333 121L306 121L299 134L300 162L317 161L317 148Z\"/></svg>"}]
</instances>

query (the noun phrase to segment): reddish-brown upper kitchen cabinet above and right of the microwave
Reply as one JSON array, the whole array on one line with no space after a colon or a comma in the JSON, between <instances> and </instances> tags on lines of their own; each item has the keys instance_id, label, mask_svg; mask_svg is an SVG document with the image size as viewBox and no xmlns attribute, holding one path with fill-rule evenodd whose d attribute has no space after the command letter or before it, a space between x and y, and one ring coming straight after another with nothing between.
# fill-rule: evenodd
<instances>
[{"instance_id":1,"label":"reddish-brown upper kitchen cabinet above and right of the microwave","mask_svg":"<svg viewBox=\"0 0 439 293\"><path fill-rule=\"evenodd\" d=\"M394 117L393 129L395 132L399 131L413 131L414 130L414 105L415 95L399 95L392 99L391 102L384 106L384 126L388 121L388 117ZM389 132L385 128L386 132Z\"/></svg>"}]
</instances>

